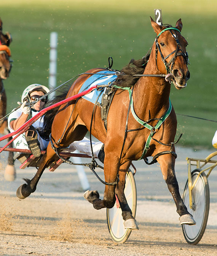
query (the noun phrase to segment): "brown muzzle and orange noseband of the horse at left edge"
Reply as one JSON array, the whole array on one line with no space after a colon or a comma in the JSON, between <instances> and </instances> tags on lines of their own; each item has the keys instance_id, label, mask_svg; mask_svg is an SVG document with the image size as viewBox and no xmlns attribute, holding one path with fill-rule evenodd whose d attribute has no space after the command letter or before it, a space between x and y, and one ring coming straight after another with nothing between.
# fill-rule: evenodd
<instances>
[{"instance_id":1,"label":"brown muzzle and orange noseband of the horse at left edge","mask_svg":"<svg viewBox=\"0 0 217 256\"><path fill-rule=\"evenodd\" d=\"M2 46L7 47L6 45L0 45L0 79L6 79L9 77L11 71L11 62L8 51L1 50Z\"/></svg>"}]
</instances>

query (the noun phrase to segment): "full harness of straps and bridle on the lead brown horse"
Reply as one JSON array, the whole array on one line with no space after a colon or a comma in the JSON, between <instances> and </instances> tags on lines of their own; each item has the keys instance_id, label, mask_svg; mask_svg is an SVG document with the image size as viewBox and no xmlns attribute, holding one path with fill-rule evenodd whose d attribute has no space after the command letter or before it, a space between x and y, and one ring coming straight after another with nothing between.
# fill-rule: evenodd
<instances>
[{"instance_id":1,"label":"full harness of straps and bridle on the lead brown horse","mask_svg":"<svg viewBox=\"0 0 217 256\"><path fill-rule=\"evenodd\" d=\"M163 53L161 52L161 49L160 49L160 45L159 45L159 42L158 42L158 38L160 37L160 35L165 32L165 31L169 31L171 32L172 34L172 37L174 37L174 39L176 40L176 43L177 43L177 47L176 47L176 50L174 50L173 52L171 52L168 56L166 56L164 58L163 56ZM173 33L173 32L174 33ZM177 34L176 34L176 31L179 31L179 29L177 28L172 28L172 27L168 27L166 29L163 29L157 36L156 36L156 39L155 39L155 45L156 45L156 48L155 48L155 59L156 59L156 67L158 68L157 66L157 55L158 55L158 51L160 52L160 55L161 55L161 58L162 58L162 61L165 65L165 68L166 68L166 71L167 73L171 73L173 68L174 68L174 63L175 63L175 60L177 58L177 56L180 56L182 55L186 61L187 64L189 64L189 60L188 60L188 54L184 52L184 50L182 49L182 46L180 45L180 42L179 42L179 39L177 37ZM180 31L179 31L180 32ZM171 58L171 60L169 61L169 63L166 61L167 58L169 56L171 56L172 54L174 54L174 56ZM116 71L116 70L113 70L112 69L112 63L110 63L110 57L108 58L108 63L109 63L109 67L107 68L108 70L110 71L114 71L115 72L115 75L124 75L124 74L120 74L120 72ZM171 68L170 68L171 66ZM83 73L83 74L88 74L88 73ZM80 74L82 75L82 74ZM93 75L93 74L90 74L90 75ZM153 76L153 77L165 77L166 75L164 74L160 74L160 75L147 75L147 74L142 74L142 75L134 75L134 76ZM144 147L144 150L143 150L143 153L142 153L142 156L138 159L138 160L141 160L141 159L144 159L145 163L146 164L153 164L153 163L156 163L157 162L157 158L161 155L164 155L164 154L172 154L174 157L177 157L177 154L172 151L172 145L173 144L176 144L179 139L181 138L182 134L179 136L179 139L176 141L176 142L171 142L169 144L164 144L156 139L153 138L153 135L156 133L156 131L160 128L160 126L163 124L163 122L166 120L166 118L168 118L169 114L171 113L171 110L172 110L172 104L171 104L171 101L169 99L169 107L168 109L166 110L166 112L163 114L162 117L160 118L154 118L154 119L150 119L150 120L157 120L158 122L156 123L155 126L151 126L148 124L148 121L143 121L141 120L137 115L136 115L136 112L134 111L134 106L133 106L133 98L132 98L132 94L133 94L133 89L134 87L120 87L120 86L116 86L115 84L110 84L110 85L105 85L105 87L108 87L106 89L106 91L104 92L104 95L102 97L102 103L101 103L101 115L102 115L102 120L104 120L104 125L105 125L105 128L107 129L107 115L108 115L108 109L110 107L110 104L111 104L111 101L112 101L112 98L113 98L113 88L116 88L116 89L123 89L123 90L128 90L129 92L129 107L128 107L128 114L127 114L127 119L126 119L126 126L125 126L125 134L124 134L124 141L123 141L123 146L122 146L122 149L121 149L121 154L120 154L120 159L119 159L119 165L120 165L120 160L121 160L121 156L122 156L122 153L123 153L123 149L124 149L124 144L125 144L125 141L126 141L126 137L127 137L127 133L130 132L130 131L136 131L138 129L134 129L134 130L128 130L128 118L129 118L129 111L131 111L134 119L142 126L144 126L145 128L147 128L148 130L150 130L150 134L147 138L147 141L145 143L145 147ZM99 97L99 96L98 96ZM95 113L95 110L96 110L96 105L97 105L97 100L96 100L96 103L94 104L94 108L93 108L93 113L92 113L92 117L91 117L91 125L90 125L90 141L91 141L91 129L92 129L92 124L93 124L93 117L94 117L94 113ZM148 149L150 149L150 143L151 143L151 140L154 140L156 141L157 143L159 144L162 144L164 146L171 146L170 147L170 150L169 151L163 151L163 152L160 152L158 154L156 154L153 159L152 159L152 162L148 162L148 159L145 158L145 154L147 153ZM52 138L52 136L50 135L50 141L51 141L51 147L54 149L54 151L56 152L56 154L59 156L59 152L61 151L61 148L58 146L59 144L59 141L60 139L58 140L58 142L56 143L54 141L54 139ZM54 146L55 145L55 146ZM112 183L107 183L105 181L102 181L98 175L96 174L96 172L94 171L95 167L101 167L100 165L98 165L96 163L96 160L94 159L94 156L93 156L93 147L92 147L92 142L91 142L91 151L92 151L92 162L90 164L82 164L82 165L86 165L88 166L93 172L94 174L97 176L97 178L102 182L104 183L105 185L115 185L118 183L118 176L117 175L117 178L116 178L116 181L112 182ZM61 159L62 157L59 156ZM75 164L73 162L71 162L69 159L62 159L64 160L64 162L67 162L69 164ZM102 168L102 167L101 167Z\"/></svg>"}]
</instances>

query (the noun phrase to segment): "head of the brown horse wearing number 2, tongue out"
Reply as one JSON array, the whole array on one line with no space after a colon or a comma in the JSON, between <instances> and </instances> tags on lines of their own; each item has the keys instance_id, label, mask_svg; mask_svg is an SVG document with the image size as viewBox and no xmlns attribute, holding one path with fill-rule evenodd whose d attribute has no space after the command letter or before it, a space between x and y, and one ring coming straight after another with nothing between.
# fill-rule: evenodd
<instances>
[{"instance_id":1,"label":"head of the brown horse wearing number 2, tongue out","mask_svg":"<svg viewBox=\"0 0 217 256\"><path fill-rule=\"evenodd\" d=\"M181 19L177 21L176 28L170 25L159 26L152 18L151 23L157 34L155 52L158 70L162 74L168 74L165 78L166 81L172 81L176 89L186 87L186 82L190 78L188 54L186 52L188 42L180 34L182 31Z\"/></svg>"}]
</instances>

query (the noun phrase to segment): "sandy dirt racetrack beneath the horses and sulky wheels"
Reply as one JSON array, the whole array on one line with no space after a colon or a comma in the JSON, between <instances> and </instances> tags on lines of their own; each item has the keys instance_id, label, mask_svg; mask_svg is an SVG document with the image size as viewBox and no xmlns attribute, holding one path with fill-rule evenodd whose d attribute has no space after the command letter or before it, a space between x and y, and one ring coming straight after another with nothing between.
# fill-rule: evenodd
<instances>
[{"instance_id":1,"label":"sandy dirt racetrack beneath the horses and sulky wheels","mask_svg":"<svg viewBox=\"0 0 217 256\"><path fill-rule=\"evenodd\" d=\"M177 151L176 173L182 193L187 178L185 154L192 156L195 152ZM209 152L197 153L205 157ZM179 216L159 167L138 163L136 219L140 229L121 245L110 239L105 209L97 211L83 199L75 169L63 165L54 173L46 171L37 191L24 200L16 198L16 188L23 183L22 177L31 178L35 170L17 168L18 177L11 183L3 180L1 172L0 255L217 255L216 172L211 174L206 232L198 245L191 246L182 235ZM97 188L102 196L104 186L89 170L86 173L91 188Z\"/></svg>"}]
</instances>

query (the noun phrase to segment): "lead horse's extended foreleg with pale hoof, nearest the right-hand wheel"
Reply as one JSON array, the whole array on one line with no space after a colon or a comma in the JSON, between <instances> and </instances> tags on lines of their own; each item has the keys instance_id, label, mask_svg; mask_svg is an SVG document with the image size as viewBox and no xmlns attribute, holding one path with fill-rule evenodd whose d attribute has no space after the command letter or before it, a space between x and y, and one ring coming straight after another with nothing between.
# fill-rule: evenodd
<instances>
[{"instance_id":1,"label":"lead horse's extended foreleg with pale hoof, nearest the right-hand wheel","mask_svg":"<svg viewBox=\"0 0 217 256\"><path fill-rule=\"evenodd\" d=\"M175 174L175 157L171 154L161 155L157 159L161 166L163 178L176 203L177 213L180 215L180 224L195 225L193 216L188 212L179 193L179 185Z\"/></svg>"}]
</instances>

